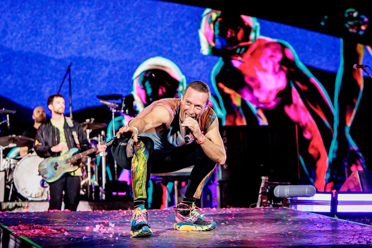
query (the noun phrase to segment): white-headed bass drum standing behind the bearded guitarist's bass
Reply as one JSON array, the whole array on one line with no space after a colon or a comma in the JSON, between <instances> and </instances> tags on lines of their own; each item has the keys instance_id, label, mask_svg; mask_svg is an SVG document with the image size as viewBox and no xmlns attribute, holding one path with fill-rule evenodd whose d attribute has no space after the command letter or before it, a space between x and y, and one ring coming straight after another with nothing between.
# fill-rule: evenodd
<instances>
[{"instance_id":1,"label":"white-headed bass drum standing behind the bearded guitarist's bass","mask_svg":"<svg viewBox=\"0 0 372 248\"><path fill-rule=\"evenodd\" d=\"M14 186L17 192L27 200L48 200L49 185L44 186L44 181L39 175L39 164L43 160L44 158L36 154L28 154L19 161L13 172Z\"/></svg>"}]
</instances>

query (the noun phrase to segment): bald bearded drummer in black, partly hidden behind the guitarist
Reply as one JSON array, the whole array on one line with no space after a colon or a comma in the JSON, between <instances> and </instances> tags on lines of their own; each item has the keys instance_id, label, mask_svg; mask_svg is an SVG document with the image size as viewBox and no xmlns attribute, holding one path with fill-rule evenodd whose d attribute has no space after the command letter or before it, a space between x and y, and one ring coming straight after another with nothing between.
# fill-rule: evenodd
<instances>
[{"instance_id":1,"label":"bald bearded drummer in black, partly hidden behind the guitarist","mask_svg":"<svg viewBox=\"0 0 372 248\"><path fill-rule=\"evenodd\" d=\"M42 106L35 107L32 113L32 119L34 120L33 126L26 129L25 132L23 132L22 136L35 139L36 132L38 132L39 126L41 126L41 124L45 122L46 118L47 116L45 115L45 109ZM33 144L21 147L19 155L21 157L25 157L25 155L27 155L28 153L32 153L32 146Z\"/></svg>"}]
</instances>

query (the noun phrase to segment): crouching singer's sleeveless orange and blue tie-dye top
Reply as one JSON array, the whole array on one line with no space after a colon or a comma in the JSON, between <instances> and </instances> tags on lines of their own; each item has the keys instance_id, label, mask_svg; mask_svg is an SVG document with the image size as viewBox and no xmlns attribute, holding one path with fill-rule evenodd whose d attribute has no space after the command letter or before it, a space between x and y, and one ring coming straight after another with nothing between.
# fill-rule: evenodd
<instances>
[{"instance_id":1,"label":"crouching singer's sleeveless orange and blue tie-dye top","mask_svg":"<svg viewBox=\"0 0 372 248\"><path fill-rule=\"evenodd\" d=\"M165 125L149 129L138 136L150 137L154 141L154 153L165 153L173 150L177 146L185 144L185 131L181 127L181 120L179 117L181 99L164 98L151 103L144 110L141 111L134 119L141 118L149 113L155 106L164 106L169 112L169 122ZM208 107L202 116L198 119L199 128L202 132L212 125L217 115L211 107ZM130 123L130 122L129 122ZM190 144L193 139L190 139Z\"/></svg>"}]
</instances>

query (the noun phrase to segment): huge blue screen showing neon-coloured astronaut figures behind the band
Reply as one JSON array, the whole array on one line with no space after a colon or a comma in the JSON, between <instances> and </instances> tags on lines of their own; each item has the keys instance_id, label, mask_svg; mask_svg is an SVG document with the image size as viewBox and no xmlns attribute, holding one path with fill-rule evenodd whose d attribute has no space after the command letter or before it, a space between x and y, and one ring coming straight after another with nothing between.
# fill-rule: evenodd
<instances>
[{"instance_id":1,"label":"huge blue screen showing neon-coloured astronaut figures behind the band","mask_svg":"<svg viewBox=\"0 0 372 248\"><path fill-rule=\"evenodd\" d=\"M371 64L370 46L164 1L3 1L0 10L0 107L47 109L70 63L73 111L108 94L133 94L141 110L202 80L222 125L298 125L300 161L319 191L334 189L345 167L366 169L350 135L365 115L363 74L352 65ZM67 81L61 93L68 99Z\"/></svg>"}]
</instances>

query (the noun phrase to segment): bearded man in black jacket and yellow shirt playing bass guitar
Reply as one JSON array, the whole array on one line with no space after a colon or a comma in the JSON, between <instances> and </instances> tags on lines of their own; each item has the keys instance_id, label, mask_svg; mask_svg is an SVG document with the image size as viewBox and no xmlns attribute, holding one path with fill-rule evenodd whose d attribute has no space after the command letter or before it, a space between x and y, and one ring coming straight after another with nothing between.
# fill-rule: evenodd
<instances>
[{"instance_id":1,"label":"bearded man in black jacket and yellow shirt playing bass guitar","mask_svg":"<svg viewBox=\"0 0 372 248\"><path fill-rule=\"evenodd\" d=\"M68 149L77 147L80 151L89 149L89 142L80 124L63 115L65 100L61 94L48 97L48 109L52 113L49 121L42 124L35 138L33 148L39 157L57 157ZM97 145L97 154L106 150L106 145ZM49 210L61 210L63 201L65 209L76 211L80 198L81 169L65 173L57 181L49 183Z\"/></svg>"}]
</instances>

